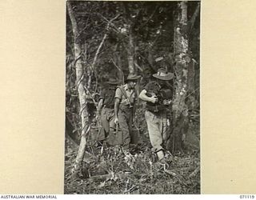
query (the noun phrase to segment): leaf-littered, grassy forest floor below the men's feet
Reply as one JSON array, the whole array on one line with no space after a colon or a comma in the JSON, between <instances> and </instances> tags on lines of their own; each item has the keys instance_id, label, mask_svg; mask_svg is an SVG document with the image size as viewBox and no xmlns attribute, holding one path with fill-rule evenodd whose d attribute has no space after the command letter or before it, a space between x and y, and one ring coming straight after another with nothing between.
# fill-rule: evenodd
<instances>
[{"instance_id":1,"label":"leaf-littered, grassy forest floor below the men's feet","mask_svg":"<svg viewBox=\"0 0 256 200\"><path fill-rule=\"evenodd\" d=\"M71 178L77 149L66 141L65 194L200 194L200 152L166 153L165 162L146 140L125 155L118 146L86 148L79 178Z\"/></svg>"}]
</instances>

